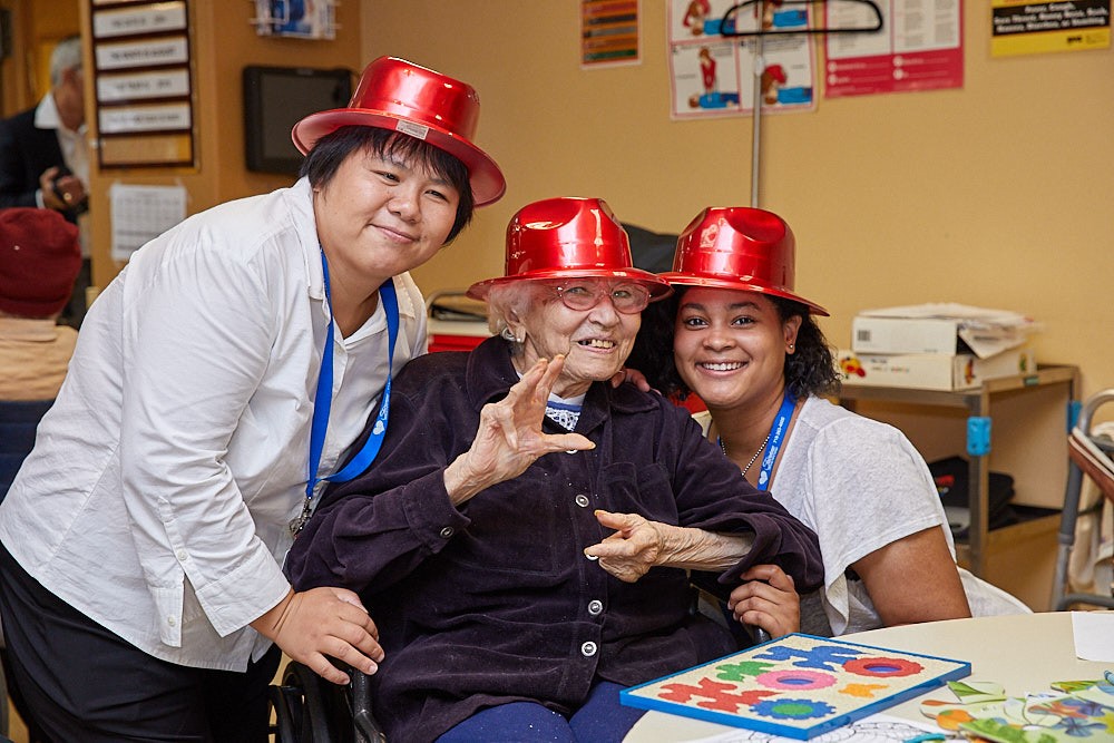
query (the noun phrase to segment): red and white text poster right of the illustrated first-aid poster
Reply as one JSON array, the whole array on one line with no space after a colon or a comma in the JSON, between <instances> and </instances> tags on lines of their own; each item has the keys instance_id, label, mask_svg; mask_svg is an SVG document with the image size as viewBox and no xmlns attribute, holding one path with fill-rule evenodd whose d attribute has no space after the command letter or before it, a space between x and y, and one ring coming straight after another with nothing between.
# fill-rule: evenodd
<instances>
[{"instance_id":1,"label":"red and white text poster right of the illustrated first-aid poster","mask_svg":"<svg viewBox=\"0 0 1114 743\"><path fill-rule=\"evenodd\" d=\"M962 0L877 0L824 3L824 97L964 85ZM873 33L838 33L870 28Z\"/></svg>"}]
</instances>

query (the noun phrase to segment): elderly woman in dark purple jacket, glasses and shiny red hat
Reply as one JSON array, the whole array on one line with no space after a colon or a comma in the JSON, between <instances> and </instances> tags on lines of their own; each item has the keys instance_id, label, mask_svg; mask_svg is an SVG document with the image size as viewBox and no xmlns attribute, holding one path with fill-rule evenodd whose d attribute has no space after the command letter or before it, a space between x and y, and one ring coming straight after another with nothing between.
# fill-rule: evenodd
<instances>
[{"instance_id":1,"label":"elderly woman in dark purple jacket, glasses and shiny red hat","mask_svg":"<svg viewBox=\"0 0 1114 743\"><path fill-rule=\"evenodd\" d=\"M688 570L723 597L756 563L818 585L809 529L685 411L607 382L667 292L604 202L522 208L506 276L470 290L498 335L411 362L379 458L326 491L287 570L375 618L391 740L619 740L623 685L734 649Z\"/></svg>"}]
</instances>

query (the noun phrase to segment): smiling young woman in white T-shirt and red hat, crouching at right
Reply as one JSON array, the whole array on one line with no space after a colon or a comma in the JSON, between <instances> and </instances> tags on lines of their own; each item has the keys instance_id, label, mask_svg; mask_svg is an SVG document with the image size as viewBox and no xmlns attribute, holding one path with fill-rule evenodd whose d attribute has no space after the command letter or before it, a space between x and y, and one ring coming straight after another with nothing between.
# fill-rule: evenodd
<instances>
[{"instance_id":1,"label":"smiling young woman in white T-shirt and red hat, crouching at right","mask_svg":"<svg viewBox=\"0 0 1114 743\"><path fill-rule=\"evenodd\" d=\"M938 491L909 440L825 399L839 379L814 317L828 313L794 293L794 251L771 212L701 212L662 274L675 294L647 310L628 362L663 393L698 395L709 438L820 537L825 585L801 617L792 581L772 566L736 589L734 614L774 635L802 622L840 635L973 608L1027 610L956 566Z\"/></svg>"}]
</instances>

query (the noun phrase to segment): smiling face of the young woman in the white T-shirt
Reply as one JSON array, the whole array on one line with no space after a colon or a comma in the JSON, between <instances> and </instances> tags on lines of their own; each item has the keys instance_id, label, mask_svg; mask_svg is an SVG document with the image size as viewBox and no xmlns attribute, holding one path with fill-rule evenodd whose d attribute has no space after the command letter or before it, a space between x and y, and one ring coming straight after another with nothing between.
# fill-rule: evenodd
<instances>
[{"instance_id":1,"label":"smiling face of the young woman in the white T-shirt","mask_svg":"<svg viewBox=\"0 0 1114 743\"><path fill-rule=\"evenodd\" d=\"M800 324L800 317L783 322L758 292L691 289L674 327L677 372L709 408L766 402L782 394L785 354Z\"/></svg>"}]
</instances>

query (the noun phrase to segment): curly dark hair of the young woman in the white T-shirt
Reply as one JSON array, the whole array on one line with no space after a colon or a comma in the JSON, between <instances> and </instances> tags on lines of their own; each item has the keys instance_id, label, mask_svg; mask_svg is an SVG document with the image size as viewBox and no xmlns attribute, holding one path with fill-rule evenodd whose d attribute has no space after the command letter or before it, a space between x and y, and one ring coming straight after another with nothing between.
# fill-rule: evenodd
<instances>
[{"instance_id":1,"label":"curly dark hair of the young woman in the white T-shirt","mask_svg":"<svg viewBox=\"0 0 1114 743\"><path fill-rule=\"evenodd\" d=\"M687 287L674 286L674 293L654 302L642 313L642 327L626 365L646 375L651 387L663 394L684 400L692 390L681 379L673 361L673 333L677 309ZM778 310L782 322L801 317L797 332L797 349L785 356L785 388L798 399L811 394L838 394L839 374L823 331L809 309L800 302L765 295Z\"/></svg>"}]
</instances>

